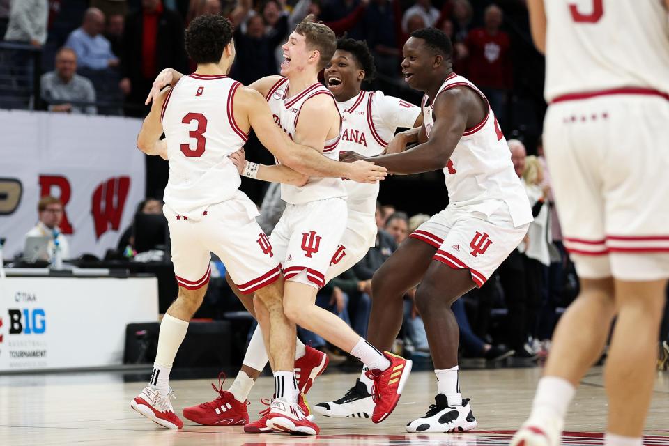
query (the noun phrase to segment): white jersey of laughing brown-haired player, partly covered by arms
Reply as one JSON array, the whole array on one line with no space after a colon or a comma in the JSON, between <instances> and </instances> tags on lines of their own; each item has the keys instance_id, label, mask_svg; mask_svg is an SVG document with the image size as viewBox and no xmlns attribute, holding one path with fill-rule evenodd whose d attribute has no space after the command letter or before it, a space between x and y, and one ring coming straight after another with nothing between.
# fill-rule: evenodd
<instances>
[{"instance_id":1,"label":"white jersey of laughing brown-haired player, partly covered by arms","mask_svg":"<svg viewBox=\"0 0 669 446\"><path fill-rule=\"evenodd\" d=\"M330 98L332 98L333 101L334 96L330 93L330 90L323 86L323 84L316 82L316 84L307 87L292 98L286 98L288 95L289 84L290 82L287 77L279 79L267 93L266 100L274 115L275 123L277 123L277 125L279 125L279 127L293 139L295 128L297 128L298 119L300 118L302 105L316 95L330 95ZM341 133L337 135L336 138L325 141L323 155L331 160L339 160L340 136ZM302 187L286 184L281 185L281 198L286 201L286 203L302 204L334 197L346 197L346 190L344 190L344 184L341 178L311 177L307 184Z\"/></svg>"}]
</instances>

